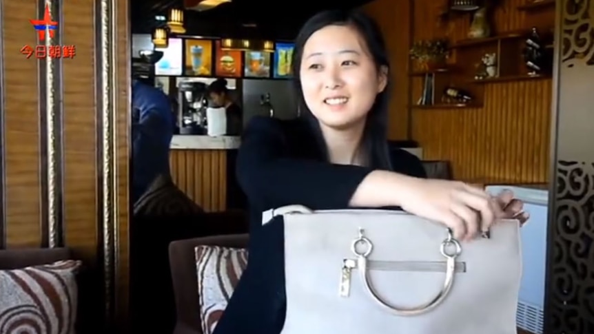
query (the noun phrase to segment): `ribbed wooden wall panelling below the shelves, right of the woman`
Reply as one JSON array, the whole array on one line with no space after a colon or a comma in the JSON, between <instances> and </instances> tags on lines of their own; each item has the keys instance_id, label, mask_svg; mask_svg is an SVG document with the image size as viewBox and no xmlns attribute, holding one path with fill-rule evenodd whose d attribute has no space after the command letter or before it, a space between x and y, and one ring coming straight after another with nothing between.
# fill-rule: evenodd
<instances>
[{"instance_id":1,"label":"ribbed wooden wall panelling below the shelves, right of the woman","mask_svg":"<svg viewBox=\"0 0 594 334\"><path fill-rule=\"evenodd\" d=\"M551 80L485 87L484 107L418 109L413 138L427 160L451 161L457 179L546 182Z\"/></svg>"}]
</instances>

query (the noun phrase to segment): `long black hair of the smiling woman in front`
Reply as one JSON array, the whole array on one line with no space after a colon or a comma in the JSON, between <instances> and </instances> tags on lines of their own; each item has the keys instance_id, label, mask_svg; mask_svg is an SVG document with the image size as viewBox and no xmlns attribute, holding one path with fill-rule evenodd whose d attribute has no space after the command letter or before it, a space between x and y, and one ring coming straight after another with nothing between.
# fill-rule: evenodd
<instances>
[{"instance_id":1,"label":"long black hair of the smiling woman in front","mask_svg":"<svg viewBox=\"0 0 594 334\"><path fill-rule=\"evenodd\" d=\"M314 127L314 132L320 143L320 149L322 149L322 154L326 158L328 156L327 147L323 145L324 141L322 140L322 132L318 121L305 104L299 72L303 57L303 48L309 36L328 25L349 25L358 30L365 40L367 48L369 48L369 52L371 53L373 62L376 63L378 71L380 71L381 67L385 67L389 71L389 62L382 33L376 22L362 12L327 10L314 15L314 17L311 17L303 25L295 40L292 61L295 76L294 83L298 92L298 107L302 111L302 115L308 118L309 123ZM391 159L387 145L389 90L390 80L388 76L388 84L385 90L376 96L376 101L373 103L369 114L367 114L362 138L362 145L365 149L365 154L367 154L367 164L370 167L380 169L391 169Z\"/></svg>"}]
</instances>

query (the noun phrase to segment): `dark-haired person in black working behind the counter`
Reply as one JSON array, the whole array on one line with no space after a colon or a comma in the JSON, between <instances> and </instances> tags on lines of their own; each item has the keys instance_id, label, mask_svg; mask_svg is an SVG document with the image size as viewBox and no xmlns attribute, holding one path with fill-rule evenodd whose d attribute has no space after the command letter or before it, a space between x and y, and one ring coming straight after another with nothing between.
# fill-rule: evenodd
<instances>
[{"instance_id":1,"label":"dark-haired person in black working behind the counter","mask_svg":"<svg viewBox=\"0 0 594 334\"><path fill-rule=\"evenodd\" d=\"M243 124L243 110L232 100L227 80L216 79L207 88L212 107L224 107L227 111L227 136L239 136Z\"/></svg>"}]
</instances>

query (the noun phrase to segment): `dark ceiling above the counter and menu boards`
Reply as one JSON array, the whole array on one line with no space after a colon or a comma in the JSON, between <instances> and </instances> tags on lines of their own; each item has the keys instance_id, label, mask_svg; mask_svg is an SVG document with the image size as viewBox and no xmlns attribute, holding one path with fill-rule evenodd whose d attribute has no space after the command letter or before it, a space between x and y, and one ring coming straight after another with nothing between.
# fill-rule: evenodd
<instances>
[{"instance_id":1,"label":"dark ceiling above the counter and menu boards","mask_svg":"<svg viewBox=\"0 0 594 334\"><path fill-rule=\"evenodd\" d=\"M204 12L185 10L184 26L186 34L195 36L291 40L305 20L320 10L355 8L368 2L371 0L232 0ZM131 0L130 3L134 34L150 34L153 28L163 24L156 21L157 15L166 17L170 8L183 8L183 0Z\"/></svg>"}]
</instances>

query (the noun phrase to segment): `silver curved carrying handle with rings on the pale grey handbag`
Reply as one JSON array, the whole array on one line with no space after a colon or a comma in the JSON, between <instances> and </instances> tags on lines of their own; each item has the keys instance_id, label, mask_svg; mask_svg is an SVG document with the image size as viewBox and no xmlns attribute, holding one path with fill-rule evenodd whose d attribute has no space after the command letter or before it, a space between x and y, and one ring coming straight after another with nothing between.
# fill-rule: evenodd
<instances>
[{"instance_id":1,"label":"silver curved carrying handle with rings on the pale grey handbag","mask_svg":"<svg viewBox=\"0 0 594 334\"><path fill-rule=\"evenodd\" d=\"M358 251L357 245L366 246L365 250ZM453 251L449 251L449 247L453 247ZM427 313L432 309L435 309L439 304L441 304L445 300L445 298L451 291L451 287L453 285L455 273L455 258L458 257L460 253L462 253L462 247L460 246L460 242L453 238L453 233L451 229L448 229L448 236L441 243L440 246L440 252L446 258L446 275L443 288L429 302L411 308L401 308L393 306L388 302L385 302L385 300L382 300L382 298L378 295L376 289L373 288L373 285L370 282L369 269L367 268L367 256L371 253L372 249L373 244L369 239L363 236L362 229L359 229L359 238L354 240L354 242L351 244L351 251L353 251L353 253L357 255L357 267L358 269L360 269L359 273L361 281L363 282L363 286L365 286L365 290L367 291L367 293L369 293L373 301L378 303L382 307L382 309L386 309L390 313L400 316L411 316Z\"/></svg>"}]
</instances>

